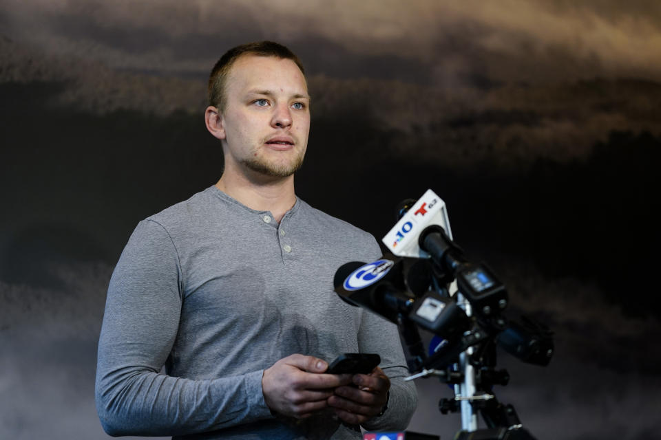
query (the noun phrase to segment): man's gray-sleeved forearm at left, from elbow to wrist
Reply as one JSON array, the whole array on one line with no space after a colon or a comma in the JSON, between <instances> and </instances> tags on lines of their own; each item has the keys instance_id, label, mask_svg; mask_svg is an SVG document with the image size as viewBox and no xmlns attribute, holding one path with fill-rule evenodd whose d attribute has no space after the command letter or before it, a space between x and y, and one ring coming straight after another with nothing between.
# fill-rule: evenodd
<instances>
[{"instance_id":1,"label":"man's gray-sleeved forearm at left, from elbow to wrist","mask_svg":"<svg viewBox=\"0 0 661 440\"><path fill-rule=\"evenodd\" d=\"M188 380L127 367L97 377L96 407L110 435L192 434L272 417L262 371Z\"/></svg>"}]
</instances>

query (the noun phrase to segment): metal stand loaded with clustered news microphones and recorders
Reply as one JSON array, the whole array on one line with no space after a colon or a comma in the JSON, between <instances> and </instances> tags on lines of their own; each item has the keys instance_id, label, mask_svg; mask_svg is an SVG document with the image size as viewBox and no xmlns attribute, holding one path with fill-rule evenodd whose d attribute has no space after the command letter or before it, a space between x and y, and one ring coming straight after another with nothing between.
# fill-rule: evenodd
<instances>
[{"instance_id":1,"label":"metal stand loaded with clustered news microphones and recorders","mask_svg":"<svg viewBox=\"0 0 661 440\"><path fill-rule=\"evenodd\" d=\"M394 264L402 276L390 274L388 283L392 285L384 283L364 294L346 292L342 286L338 290L336 281L336 292L350 304L368 307L397 322L408 369L418 372L405 380L437 376L454 386L454 399L439 401L443 414L461 410L461 430L454 440L534 440L514 407L501 404L494 395L494 384L506 385L510 380L507 371L495 369L496 342L523 362L547 365L553 354L552 333L532 320L508 326L501 315L508 303L505 286L487 265L465 259L463 250L452 241L445 203L432 190L418 201L403 200L396 217L397 224L382 241L401 257ZM403 263L406 258L425 261L422 266L428 270ZM457 287L454 297L448 289L451 283ZM381 289L384 292L378 297L390 298L386 295L390 288L415 298L402 301L395 295L395 307L374 303L375 292ZM433 354L424 350L417 326L443 338ZM477 412L486 429L479 429Z\"/></svg>"}]
</instances>

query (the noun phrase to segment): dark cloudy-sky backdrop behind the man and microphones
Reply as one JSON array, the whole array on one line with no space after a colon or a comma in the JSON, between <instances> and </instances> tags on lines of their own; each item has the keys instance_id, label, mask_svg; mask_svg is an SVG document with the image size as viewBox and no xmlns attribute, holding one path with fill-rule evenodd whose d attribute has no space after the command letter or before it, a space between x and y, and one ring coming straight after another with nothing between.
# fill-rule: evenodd
<instances>
[{"instance_id":1,"label":"dark cloudy-sky backdrop behind the man and microphones","mask_svg":"<svg viewBox=\"0 0 661 440\"><path fill-rule=\"evenodd\" d=\"M260 39L306 65L302 199L380 239L432 188L510 316L554 330L547 368L499 357L524 425L655 437L661 8L574 3L3 2L0 438L107 437L93 394L112 268L140 219L220 177L207 74ZM410 428L452 438L449 389L417 384Z\"/></svg>"}]
</instances>

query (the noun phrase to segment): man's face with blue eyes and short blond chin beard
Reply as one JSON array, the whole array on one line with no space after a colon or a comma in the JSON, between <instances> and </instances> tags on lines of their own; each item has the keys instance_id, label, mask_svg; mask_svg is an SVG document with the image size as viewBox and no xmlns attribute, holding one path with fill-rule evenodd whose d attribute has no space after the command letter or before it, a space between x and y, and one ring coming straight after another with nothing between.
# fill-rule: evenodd
<instances>
[{"instance_id":1,"label":"man's face with blue eyes and short blond chin beard","mask_svg":"<svg viewBox=\"0 0 661 440\"><path fill-rule=\"evenodd\" d=\"M310 130L308 87L298 66L272 56L242 56L226 84L225 168L292 175L303 163Z\"/></svg>"}]
</instances>

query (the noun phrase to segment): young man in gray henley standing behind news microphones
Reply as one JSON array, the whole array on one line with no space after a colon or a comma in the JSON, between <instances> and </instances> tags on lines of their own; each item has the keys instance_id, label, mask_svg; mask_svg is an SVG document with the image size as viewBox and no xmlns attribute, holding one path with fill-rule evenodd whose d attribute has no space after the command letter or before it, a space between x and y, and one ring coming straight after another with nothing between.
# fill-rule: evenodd
<instances>
[{"instance_id":1,"label":"young man in gray henley standing behind news microphones","mask_svg":"<svg viewBox=\"0 0 661 440\"><path fill-rule=\"evenodd\" d=\"M378 245L294 192L310 124L300 61L268 41L235 47L211 73L209 100L222 177L141 221L110 281L96 373L103 428L191 439L405 428L416 395L396 327L333 292L337 267L377 258ZM359 351L379 353L380 368L324 373Z\"/></svg>"}]
</instances>

